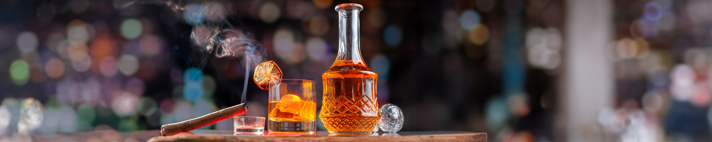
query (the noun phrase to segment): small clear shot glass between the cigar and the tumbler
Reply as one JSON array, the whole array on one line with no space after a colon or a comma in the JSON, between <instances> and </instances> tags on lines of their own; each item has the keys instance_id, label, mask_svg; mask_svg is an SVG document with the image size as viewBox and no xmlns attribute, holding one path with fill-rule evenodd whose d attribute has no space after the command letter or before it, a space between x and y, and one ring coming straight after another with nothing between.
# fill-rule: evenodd
<instances>
[{"instance_id":1,"label":"small clear shot glass between the cigar and the tumbler","mask_svg":"<svg viewBox=\"0 0 712 142\"><path fill-rule=\"evenodd\" d=\"M265 131L265 117L235 116L235 133L263 133Z\"/></svg>"}]
</instances>

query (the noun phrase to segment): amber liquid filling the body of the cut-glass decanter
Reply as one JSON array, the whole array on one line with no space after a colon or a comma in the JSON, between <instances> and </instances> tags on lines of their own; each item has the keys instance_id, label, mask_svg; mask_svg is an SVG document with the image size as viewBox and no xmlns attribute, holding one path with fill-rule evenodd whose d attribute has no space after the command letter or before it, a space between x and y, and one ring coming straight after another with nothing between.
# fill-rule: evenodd
<instances>
[{"instance_id":1,"label":"amber liquid filling the body of the cut-glass decanter","mask_svg":"<svg viewBox=\"0 0 712 142\"><path fill-rule=\"evenodd\" d=\"M319 118L330 133L371 133L381 119L376 101L377 77L362 61L352 60L338 60L324 72Z\"/></svg>"}]
</instances>

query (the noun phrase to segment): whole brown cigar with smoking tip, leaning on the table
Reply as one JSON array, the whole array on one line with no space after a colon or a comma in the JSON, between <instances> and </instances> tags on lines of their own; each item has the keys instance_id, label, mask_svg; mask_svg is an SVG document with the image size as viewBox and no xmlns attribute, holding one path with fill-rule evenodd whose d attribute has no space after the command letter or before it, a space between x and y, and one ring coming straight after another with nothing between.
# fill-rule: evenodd
<instances>
[{"instance_id":1,"label":"whole brown cigar with smoking tip, leaning on the table","mask_svg":"<svg viewBox=\"0 0 712 142\"><path fill-rule=\"evenodd\" d=\"M210 114L205 114L204 116L199 116L195 119L190 119L175 124L165 124L161 126L161 136L172 136L176 133L192 131L194 129L199 129L203 126L215 124L219 121L230 119L234 116L239 116L245 113L247 113L247 104L238 104L233 107L221 109Z\"/></svg>"}]
</instances>

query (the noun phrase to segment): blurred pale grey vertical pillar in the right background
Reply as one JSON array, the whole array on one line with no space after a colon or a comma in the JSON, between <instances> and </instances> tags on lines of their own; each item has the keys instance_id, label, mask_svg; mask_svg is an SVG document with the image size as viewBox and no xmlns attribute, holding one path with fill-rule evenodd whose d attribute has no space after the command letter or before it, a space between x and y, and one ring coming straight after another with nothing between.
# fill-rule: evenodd
<instances>
[{"instance_id":1,"label":"blurred pale grey vertical pillar in the right background","mask_svg":"<svg viewBox=\"0 0 712 142\"><path fill-rule=\"evenodd\" d=\"M612 1L568 0L566 5L559 129L565 141L604 141L597 114L613 101L612 61L606 49L613 40Z\"/></svg>"}]
</instances>

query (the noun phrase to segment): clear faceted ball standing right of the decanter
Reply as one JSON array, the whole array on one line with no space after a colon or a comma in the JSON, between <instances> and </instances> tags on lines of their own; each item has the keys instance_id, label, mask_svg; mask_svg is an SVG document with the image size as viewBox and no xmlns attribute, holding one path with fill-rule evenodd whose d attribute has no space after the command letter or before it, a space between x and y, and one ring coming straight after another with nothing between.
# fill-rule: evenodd
<instances>
[{"instance_id":1,"label":"clear faceted ball standing right of the decanter","mask_svg":"<svg viewBox=\"0 0 712 142\"><path fill-rule=\"evenodd\" d=\"M385 132L397 132L403 128L403 111L394 104L384 104L380 108L381 120L378 127Z\"/></svg>"}]
</instances>

